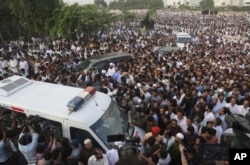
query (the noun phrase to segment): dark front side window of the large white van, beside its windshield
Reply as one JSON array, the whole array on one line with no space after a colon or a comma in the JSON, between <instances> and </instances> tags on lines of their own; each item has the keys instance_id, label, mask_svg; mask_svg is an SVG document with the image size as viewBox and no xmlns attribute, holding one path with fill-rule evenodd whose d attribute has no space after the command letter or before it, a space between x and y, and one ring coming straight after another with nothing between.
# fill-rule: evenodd
<instances>
[{"instance_id":1,"label":"dark front side window of the large white van, beside its windshield","mask_svg":"<svg viewBox=\"0 0 250 165\"><path fill-rule=\"evenodd\" d=\"M75 127L70 127L69 130L71 139L76 139L81 144L85 139L90 139L94 147L102 148L88 131Z\"/></svg>"}]
</instances>

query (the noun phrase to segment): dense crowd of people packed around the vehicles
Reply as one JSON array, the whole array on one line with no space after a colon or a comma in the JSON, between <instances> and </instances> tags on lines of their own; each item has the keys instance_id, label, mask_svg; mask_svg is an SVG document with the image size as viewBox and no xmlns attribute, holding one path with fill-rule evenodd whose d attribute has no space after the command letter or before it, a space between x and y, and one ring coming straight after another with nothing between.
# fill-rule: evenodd
<instances>
[{"instance_id":1,"label":"dense crowd of people packed around the vehicles","mask_svg":"<svg viewBox=\"0 0 250 165\"><path fill-rule=\"evenodd\" d=\"M137 155L130 150L118 154L122 144L115 142L103 153L92 146L91 139L76 142L53 136L43 143L37 126L29 125L15 132L15 140L8 134L10 128L1 128L0 164L11 164L13 155L18 155L18 163L39 165L195 165L202 162L202 144L220 144L223 133L237 130L237 123L230 124L227 116L249 115L249 16L159 12L151 30L140 28L141 19L117 22L109 31L77 40L32 38L2 44L0 77L17 74L79 88L95 86L117 102L129 126L145 130L144 149ZM193 42L160 54L161 47L175 46L173 34L180 31L189 33ZM87 58L119 51L132 54L134 60L110 61L102 70L78 67ZM203 161L206 163L228 162Z\"/></svg>"}]
</instances>

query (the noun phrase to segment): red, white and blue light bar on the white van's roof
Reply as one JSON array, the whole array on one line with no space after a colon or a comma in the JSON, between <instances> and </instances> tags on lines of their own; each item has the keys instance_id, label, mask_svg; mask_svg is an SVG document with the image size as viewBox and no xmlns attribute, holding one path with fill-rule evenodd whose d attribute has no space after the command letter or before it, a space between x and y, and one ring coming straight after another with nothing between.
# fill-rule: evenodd
<instances>
[{"instance_id":1,"label":"red, white and blue light bar on the white van's roof","mask_svg":"<svg viewBox=\"0 0 250 165\"><path fill-rule=\"evenodd\" d=\"M96 89L94 87L85 88L84 91L76 95L68 102L67 107L69 111L77 111L81 107L81 105L95 93Z\"/></svg>"}]
</instances>

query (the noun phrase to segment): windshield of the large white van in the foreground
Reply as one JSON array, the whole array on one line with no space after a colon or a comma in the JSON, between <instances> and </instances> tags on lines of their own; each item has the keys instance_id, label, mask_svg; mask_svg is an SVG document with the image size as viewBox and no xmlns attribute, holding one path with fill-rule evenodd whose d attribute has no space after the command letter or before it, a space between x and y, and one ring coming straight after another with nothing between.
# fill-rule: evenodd
<instances>
[{"instance_id":1,"label":"windshield of the large white van in the foreground","mask_svg":"<svg viewBox=\"0 0 250 165\"><path fill-rule=\"evenodd\" d=\"M128 122L124 114L112 101L108 110L94 125L90 128L110 148L112 143L107 141L108 135L124 135L127 131Z\"/></svg>"}]
</instances>

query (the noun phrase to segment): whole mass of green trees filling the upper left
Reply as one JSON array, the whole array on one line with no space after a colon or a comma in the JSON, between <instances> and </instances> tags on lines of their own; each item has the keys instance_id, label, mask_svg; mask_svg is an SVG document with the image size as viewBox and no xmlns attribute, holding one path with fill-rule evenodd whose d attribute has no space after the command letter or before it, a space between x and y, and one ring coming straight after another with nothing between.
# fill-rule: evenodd
<instances>
[{"instance_id":1,"label":"whole mass of green trees filling the upper left","mask_svg":"<svg viewBox=\"0 0 250 165\"><path fill-rule=\"evenodd\" d=\"M20 37L80 35L108 27L113 17L99 5L64 4L62 0L0 0L0 40Z\"/></svg>"}]
</instances>

